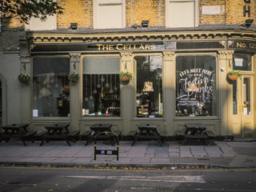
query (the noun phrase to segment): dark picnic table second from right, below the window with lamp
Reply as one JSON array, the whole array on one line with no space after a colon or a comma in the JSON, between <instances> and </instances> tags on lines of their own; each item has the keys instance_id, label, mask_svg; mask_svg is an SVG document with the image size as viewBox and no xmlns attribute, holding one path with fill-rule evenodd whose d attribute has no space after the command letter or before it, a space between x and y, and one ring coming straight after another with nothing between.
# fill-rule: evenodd
<instances>
[{"instance_id":1,"label":"dark picnic table second from right, below the window with lamp","mask_svg":"<svg viewBox=\"0 0 256 192\"><path fill-rule=\"evenodd\" d=\"M138 125L138 131L131 130L127 136L133 138L131 146L134 146L138 139L155 140L162 146L161 135L158 134L157 125L154 123Z\"/></svg>"}]
</instances>

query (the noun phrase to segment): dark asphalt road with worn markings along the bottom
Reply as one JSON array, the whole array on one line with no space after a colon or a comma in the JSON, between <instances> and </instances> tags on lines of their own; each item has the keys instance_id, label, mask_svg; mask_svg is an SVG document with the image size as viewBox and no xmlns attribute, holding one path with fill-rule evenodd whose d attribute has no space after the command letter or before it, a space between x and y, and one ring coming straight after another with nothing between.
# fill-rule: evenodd
<instances>
[{"instance_id":1,"label":"dark asphalt road with worn markings along the bottom","mask_svg":"<svg viewBox=\"0 0 256 192\"><path fill-rule=\"evenodd\" d=\"M99 170L0 167L0 191L256 192L256 170Z\"/></svg>"}]
</instances>

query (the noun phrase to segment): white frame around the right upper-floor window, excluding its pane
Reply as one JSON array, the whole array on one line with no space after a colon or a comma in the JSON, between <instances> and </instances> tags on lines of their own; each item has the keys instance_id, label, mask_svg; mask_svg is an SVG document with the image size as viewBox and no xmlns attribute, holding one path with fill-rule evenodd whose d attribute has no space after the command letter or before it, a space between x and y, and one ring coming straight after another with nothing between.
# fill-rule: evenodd
<instances>
[{"instance_id":1,"label":"white frame around the right upper-floor window, excluding its pane","mask_svg":"<svg viewBox=\"0 0 256 192\"><path fill-rule=\"evenodd\" d=\"M194 26L198 26L198 0L166 0L166 27L191 27L191 26L170 26L170 2L194 2ZM193 26L192 26L193 27Z\"/></svg>"}]
</instances>

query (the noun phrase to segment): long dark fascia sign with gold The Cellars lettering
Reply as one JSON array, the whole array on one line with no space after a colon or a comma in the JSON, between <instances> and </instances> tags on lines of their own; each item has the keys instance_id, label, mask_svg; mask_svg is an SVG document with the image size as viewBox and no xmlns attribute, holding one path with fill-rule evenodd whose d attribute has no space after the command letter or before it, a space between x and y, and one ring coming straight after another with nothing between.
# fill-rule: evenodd
<instances>
[{"instance_id":1,"label":"long dark fascia sign with gold The Cellars lettering","mask_svg":"<svg viewBox=\"0 0 256 192\"><path fill-rule=\"evenodd\" d=\"M226 41L199 42L114 42L75 44L36 44L30 46L30 53L52 53L70 51L161 51L161 50L220 50L226 48Z\"/></svg>"}]
</instances>

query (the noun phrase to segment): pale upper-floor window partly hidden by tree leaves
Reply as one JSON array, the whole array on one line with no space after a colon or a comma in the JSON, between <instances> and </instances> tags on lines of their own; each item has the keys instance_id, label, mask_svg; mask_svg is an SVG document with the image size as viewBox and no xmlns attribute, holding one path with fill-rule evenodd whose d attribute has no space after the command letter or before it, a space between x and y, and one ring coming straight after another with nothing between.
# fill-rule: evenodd
<instances>
[{"instance_id":1,"label":"pale upper-floor window partly hidden by tree leaves","mask_svg":"<svg viewBox=\"0 0 256 192\"><path fill-rule=\"evenodd\" d=\"M30 18L30 22L26 25L27 30L56 30L57 16L47 16L45 21L40 18Z\"/></svg>"}]
</instances>

